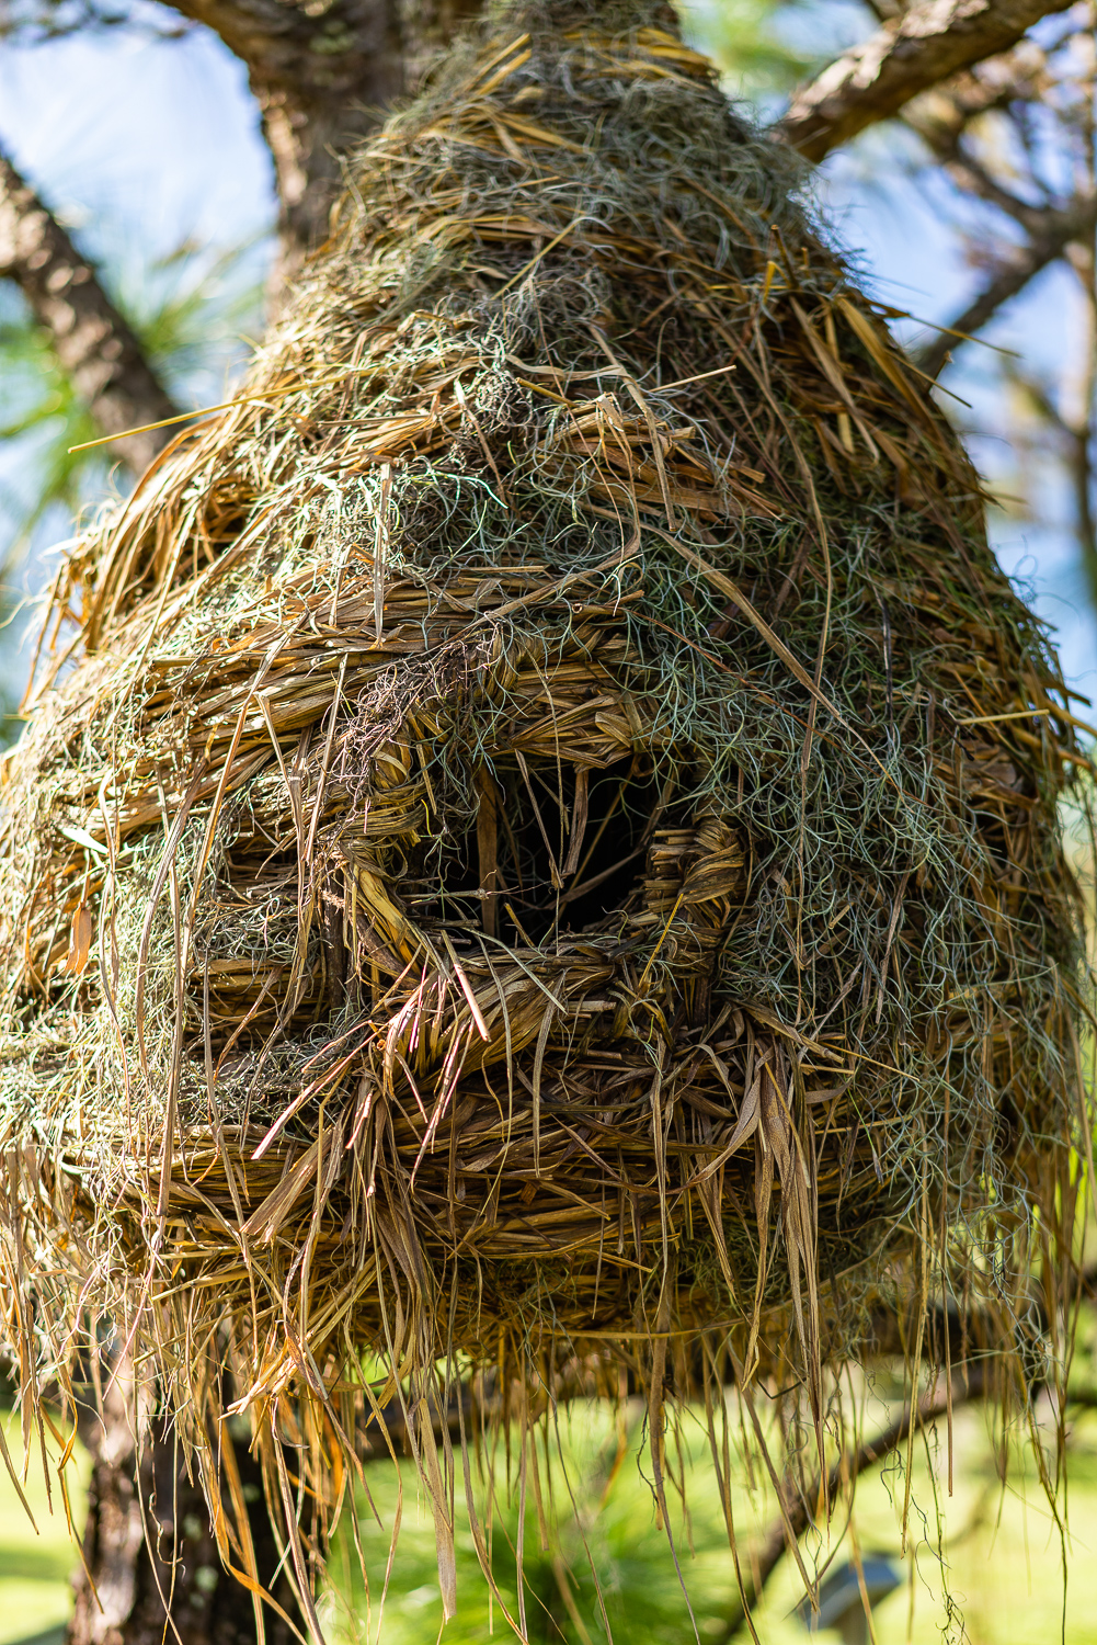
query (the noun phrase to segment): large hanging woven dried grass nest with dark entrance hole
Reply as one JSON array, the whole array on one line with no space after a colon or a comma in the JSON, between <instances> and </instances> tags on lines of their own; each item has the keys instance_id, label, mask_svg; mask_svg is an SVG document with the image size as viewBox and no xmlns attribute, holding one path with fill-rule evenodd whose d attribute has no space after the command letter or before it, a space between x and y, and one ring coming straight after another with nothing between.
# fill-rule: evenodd
<instances>
[{"instance_id":1,"label":"large hanging woven dried grass nest with dark entrance hole","mask_svg":"<svg viewBox=\"0 0 1097 1645\"><path fill-rule=\"evenodd\" d=\"M110 1318L314 1480L396 1397L444 1520L447 1375L817 1418L926 1253L1054 1286L1079 722L799 186L664 13L511 8L76 541L5 768L25 1379Z\"/></svg>"}]
</instances>

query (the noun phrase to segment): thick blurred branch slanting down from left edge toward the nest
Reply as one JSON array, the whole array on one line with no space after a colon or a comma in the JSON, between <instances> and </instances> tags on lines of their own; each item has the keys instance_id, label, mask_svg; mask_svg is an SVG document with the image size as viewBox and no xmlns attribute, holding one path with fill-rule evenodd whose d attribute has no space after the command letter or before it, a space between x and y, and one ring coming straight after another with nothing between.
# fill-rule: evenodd
<instances>
[{"instance_id":1,"label":"thick blurred branch slanting down from left edge toward the nest","mask_svg":"<svg viewBox=\"0 0 1097 1645\"><path fill-rule=\"evenodd\" d=\"M15 280L104 434L174 416L141 345L61 224L0 153L0 276ZM113 443L143 470L169 431Z\"/></svg>"}]
</instances>

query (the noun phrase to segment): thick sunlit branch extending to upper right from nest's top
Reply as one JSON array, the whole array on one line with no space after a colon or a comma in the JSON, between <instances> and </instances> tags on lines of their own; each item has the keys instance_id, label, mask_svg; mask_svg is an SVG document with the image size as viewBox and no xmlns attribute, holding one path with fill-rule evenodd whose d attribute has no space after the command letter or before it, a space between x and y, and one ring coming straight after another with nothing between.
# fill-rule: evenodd
<instances>
[{"instance_id":1,"label":"thick sunlit branch extending to upper right from nest's top","mask_svg":"<svg viewBox=\"0 0 1097 1645\"><path fill-rule=\"evenodd\" d=\"M929 86L1008 51L1071 0L924 0L837 58L794 99L775 135L822 160Z\"/></svg>"}]
</instances>

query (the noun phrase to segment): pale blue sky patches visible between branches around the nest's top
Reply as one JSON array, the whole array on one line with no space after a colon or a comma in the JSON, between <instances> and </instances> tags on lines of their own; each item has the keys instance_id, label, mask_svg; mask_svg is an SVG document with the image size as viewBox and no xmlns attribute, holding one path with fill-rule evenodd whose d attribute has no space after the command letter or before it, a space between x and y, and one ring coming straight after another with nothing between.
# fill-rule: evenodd
<instances>
[{"instance_id":1,"label":"pale blue sky patches visible between branches around the nest's top","mask_svg":"<svg viewBox=\"0 0 1097 1645\"><path fill-rule=\"evenodd\" d=\"M809 7L804 15L811 25ZM842 28L854 18L852 8L839 13ZM130 262L135 275L186 240L209 247L262 240L273 220L271 164L247 76L201 28L174 39L104 30L0 46L0 141L84 243ZM914 184L910 155L901 135L873 133L827 163L819 191L872 293L949 321L979 280L954 229L965 207L946 184L929 194ZM988 336L1054 370L1069 360L1076 319L1071 276L1053 270ZM238 359L230 341L214 350L191 385L191 403L217 398ZM974 431L984 472L1007 475L1011 452L993 354L967 347L946 382L970 401L970 410L956 410ZM1071 681L1097 694L1095 619L1062 526L1066 503L1054 474L1044 492L1041 523L992 520L995 546L1005 568L1031 584L1041 615L1056 623ZM54 535L64 531L64 521L49 525ZM41 548L44 541L36 553Z\"/></svg>"}]
</instances>

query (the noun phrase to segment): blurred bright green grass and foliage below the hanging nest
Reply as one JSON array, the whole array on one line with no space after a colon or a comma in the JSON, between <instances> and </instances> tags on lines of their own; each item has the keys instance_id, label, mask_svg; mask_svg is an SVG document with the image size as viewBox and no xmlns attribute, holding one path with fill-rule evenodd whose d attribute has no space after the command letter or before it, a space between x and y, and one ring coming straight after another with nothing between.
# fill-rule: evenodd
<instances>
[{"instance_id":1,"label":"blurred bright green grass and foliage below the hanging nest","mask_svg":"<svg viewBox=\"0 0 1097 1645\"><path fill-rule=\"evenodd\" d=\"M901 1390L862 1387L867 1426L883 1426ZM655 1522L651 1489L638 1459L641 1415L632 1413L627 1431L602 1410L574 1406L561 1411L549 1438L549 1462L543 1472L546 1504L543 1546L538 1546L538 1513L531 1485L525 1513L530 1522L523 1569L526 1578L526 1627L531 1645L604 1645L605 1620L617 1645L747 1645L750 1632L738 1624L735 1574L727 1528L712 1479L707 1436L701 1426L681 1436L674 1471L681 1494L673 1499L671 1531L681 1581L668 1553L664 1531ZM623 1443L622 1443L623 1441ZM806 1536L808 1569L824 1573L827 1561L886 1555L901 1582L873 1610L877 1645L1092 1645L1097 1615L1097 1413L1081 1410L1071 1430L1071 1581L1062 1584L1059 1531L1035 1480L1023 1434L992 1436L984 1410L957 1410L954 1418L954 1492L944 1482L947 1461L944 1423L919 1438L913 1459L911 1533L903 1551L903 1461L862 1476L855 1517L837 1515L827 1540ZM1010 1482L1000 1469L1008 1454ZM324 1622L339 1645L434 1645L442 1607L437 1591L434 1528L424 1502L403 1502L400 1551L388 1594L385 1568L395 1518L398 1482L391 1464L372 1464L367 1487L380 1522L359 1499L368 1594L359 1574L359 1558L347 1522L336 1541L332 1582ZM503 1482L507 1480L507 1482ZM776 1512L763 1479L734 1471L735 1533L743 1563ZM492 1573L503 1602L515 1609L515 1546L520 1518L520 1482L500 1467L493 1505ZM484 1494L477 1504L487 1518ZM382 1596L385 1602L382 1606ZM446 1645L480 1645L510 1630L488 1596L470 1535L457 1541L456 1619L441 1633ZM808 1633L794 1615L803 1587L794 1564L783 1561L753 1622L763 1645L806 1645ZM696 1625L696 1633L694 1633ZM492 1632L493 1630L493 1632ZM824 1632L821 1640L837 1642Z\"/></svg>"}]
</instances>

